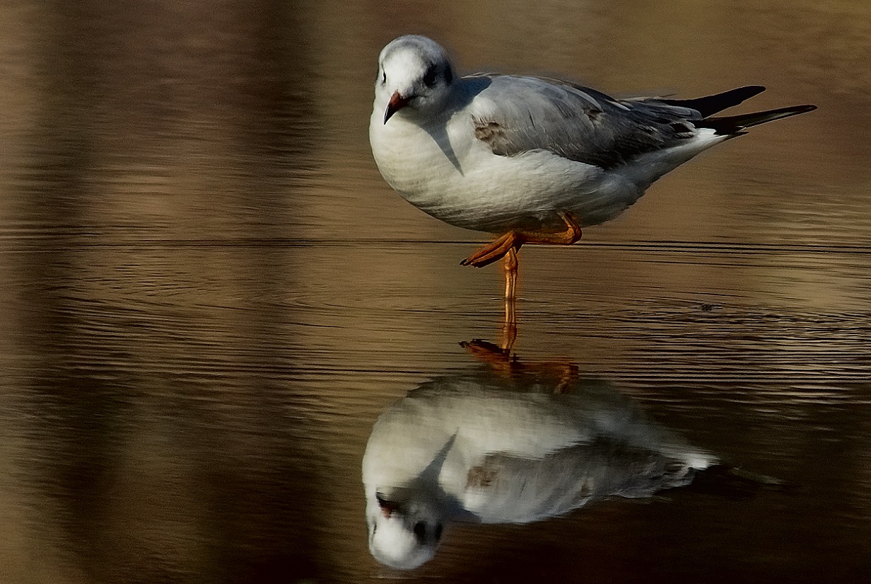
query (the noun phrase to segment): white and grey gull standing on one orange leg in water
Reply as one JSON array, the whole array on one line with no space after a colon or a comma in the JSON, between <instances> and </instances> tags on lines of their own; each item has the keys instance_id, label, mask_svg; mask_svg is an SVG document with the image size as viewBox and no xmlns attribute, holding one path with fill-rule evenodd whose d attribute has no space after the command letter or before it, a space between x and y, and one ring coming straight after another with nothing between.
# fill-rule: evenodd
<instances>
[{"instance_id":1,"label":"white and grey gull standing on one orange leg in water","mask_svg":"<svg viewBox=\"0 0 871 584\"><path fill-rule=\"evenodd\" d=\"M449 225L497 236L461 264L504 258L508 319L521 245L574 244L582 227L617 217L699 152L816 109L713 117L762 91L617 99L559 79L456 77L441 45L407 35L381 50L369 142L402 198Z\"/></svg>"}]
</instances>

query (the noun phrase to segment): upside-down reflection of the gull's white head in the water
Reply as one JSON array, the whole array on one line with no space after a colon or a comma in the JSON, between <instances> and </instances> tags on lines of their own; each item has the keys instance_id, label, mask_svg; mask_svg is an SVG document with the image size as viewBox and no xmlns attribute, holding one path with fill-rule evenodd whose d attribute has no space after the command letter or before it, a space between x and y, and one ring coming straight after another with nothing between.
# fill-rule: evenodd
<instances>
[{"instance_id":1,"label":"upside-down reflection of the gull's white head in the water","mask_svg":"<svg viewBox=\"0 0 871 584\"><path fill-rule=\"evenodd\" d=\"M368 501L369 552L389 567L410 570L436 554L442 538L442 519L434 508L403 506L375 494Z\"/></svg>"}]
</instances>

